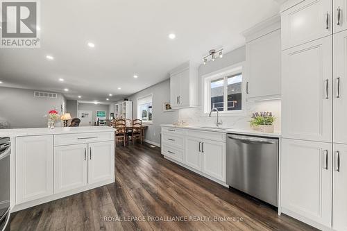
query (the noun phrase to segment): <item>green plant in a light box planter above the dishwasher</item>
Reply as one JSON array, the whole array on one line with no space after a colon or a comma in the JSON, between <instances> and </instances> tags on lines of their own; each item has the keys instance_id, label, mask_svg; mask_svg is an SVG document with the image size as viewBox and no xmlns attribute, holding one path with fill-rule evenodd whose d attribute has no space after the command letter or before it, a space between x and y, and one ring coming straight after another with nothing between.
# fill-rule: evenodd
<instances>
[{"instance_id":1,"label":"green plant in a light box planter above the dishwasher","mask_svg":"<svg viewBox=\"0 0 347 231\"><path fill-rule=\"evenodd\" d=\"M261 132L273 132L273 121L275 117L272 112L255 112L251 117L251 127Z\"/></svg>"}]
</instances>

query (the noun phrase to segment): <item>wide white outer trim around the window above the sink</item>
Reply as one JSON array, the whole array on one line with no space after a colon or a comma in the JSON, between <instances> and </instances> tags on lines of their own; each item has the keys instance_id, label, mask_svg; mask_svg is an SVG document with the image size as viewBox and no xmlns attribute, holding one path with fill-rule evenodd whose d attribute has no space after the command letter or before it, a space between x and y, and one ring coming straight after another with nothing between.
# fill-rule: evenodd
<instances>
[{"instance_id":1,"label":"wide white outer trim around the window above the sink","mask_svg":"<svg viewBox=\"0 0 347 231\"><path fill-rule=\"evenodd\" d=\"M246 70L245 70L245 62L238 62L234 65L230 65L228 67L225 67L223 69L219 69L218 71L213 71L209 74L205 74L201 76L201 105L202 105L202 117L207 117L210 112L208 112L208 109L210 108L210 100L208 97L210 96L210 87L207 84L207 82L210 82L211 80L215 80L218 78L222 78L228 75L237 74L239 72L242 72L242 110L237 111L223 111L219 112L221 115L226 117L240 117L240 116L246 116ZM207 95L206 95L207 92ZM225 100L224 100L225 101ZM214 114L214 113L212 113Z\"/></svg>"}]
</instances>

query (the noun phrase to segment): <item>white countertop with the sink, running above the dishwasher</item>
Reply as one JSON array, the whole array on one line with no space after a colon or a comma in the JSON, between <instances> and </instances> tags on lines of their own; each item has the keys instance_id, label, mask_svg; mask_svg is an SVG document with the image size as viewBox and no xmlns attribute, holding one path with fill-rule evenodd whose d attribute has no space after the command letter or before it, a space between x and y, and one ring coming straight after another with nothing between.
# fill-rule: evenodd
<instances>
[{"instance_id":1,"label":"white countertop with the sink, running above the dishwasher","mask_svg":"<svg viewBox=\"0 0 347 231\"><path fill-rule=\"evenodd\" d=\"M228 129L217 129L217 128L202 128L201 126L176 126L172 124L161 124L162 127L170 127L170 128L183 128L183 129L194 129L194 130L205 130L210 132L223 132L223 133L235 133L235 134L241 134L241 135L257 135L262 137L281 137L280 132L260 132L257 130L247 130L247 129L240 129L240 128L228 128Z\"/></svg>"}]
</instances>

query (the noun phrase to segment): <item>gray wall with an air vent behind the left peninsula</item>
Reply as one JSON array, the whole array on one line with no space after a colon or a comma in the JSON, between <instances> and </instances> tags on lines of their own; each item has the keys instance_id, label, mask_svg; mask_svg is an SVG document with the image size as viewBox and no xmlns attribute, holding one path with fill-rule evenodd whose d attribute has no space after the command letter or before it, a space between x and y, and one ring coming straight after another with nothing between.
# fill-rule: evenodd
<instances>
[{"instance_id":1,"label":"gray wall with an air vent behind the left peninsula","mask_svg":"<svg viewBox=\"0 0 347 231\"><path fill-rule=\"evenodd\" d=\"M34 90L0 87L0 123L8 122L11 128L44 128L49 110L61 112L65 97L57 99L34 97ZM60 126L60 122L56 123Z\"/></svg>"}]
</instances>

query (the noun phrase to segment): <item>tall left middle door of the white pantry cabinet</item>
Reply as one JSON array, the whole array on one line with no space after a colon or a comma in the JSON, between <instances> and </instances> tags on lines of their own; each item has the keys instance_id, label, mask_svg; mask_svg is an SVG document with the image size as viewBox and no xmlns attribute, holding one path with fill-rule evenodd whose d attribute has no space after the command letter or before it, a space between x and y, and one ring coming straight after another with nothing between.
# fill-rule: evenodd
<instances>
[{"instance_id":1,"label":"tall left middle door of the white pantry cabinet","mask_svg":"<svg viewBox=\"0 0 347 231\"><path fill-rule=\"evenodd\" d=\"M332 37L282 55L282 137L332 142Z\"/></svg>"}]
</instances>

